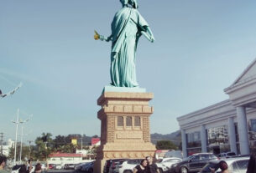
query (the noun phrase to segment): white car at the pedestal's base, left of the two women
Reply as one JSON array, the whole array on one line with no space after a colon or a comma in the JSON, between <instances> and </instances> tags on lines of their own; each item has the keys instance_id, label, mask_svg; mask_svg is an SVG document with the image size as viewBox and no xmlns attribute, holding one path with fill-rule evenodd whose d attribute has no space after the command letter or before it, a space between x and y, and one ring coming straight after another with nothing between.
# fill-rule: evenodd
<instances>
[{"instance_id":1,"label":"white car at the pedestal's base, left of the two women","mask_svg":"<svg viewBox=\"0 0 256 173\"><path fill-rule=\"evenodd\" d=\"M114 173L133 173L133 168L140 164L141 159L120 160L116 162Z\"/></svg>"}]
</instances>

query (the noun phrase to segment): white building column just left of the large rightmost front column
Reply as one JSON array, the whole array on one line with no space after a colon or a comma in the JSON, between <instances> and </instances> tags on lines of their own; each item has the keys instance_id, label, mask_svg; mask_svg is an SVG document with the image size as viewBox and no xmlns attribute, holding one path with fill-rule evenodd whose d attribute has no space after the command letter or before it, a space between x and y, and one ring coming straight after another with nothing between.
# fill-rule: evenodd
<instances>
[{"instance_id":1,"label":"white building column just left of the large rightmost front column","mask_svg":"<svg viewBox=\"0 0 256 173\"><path fill-rule=\"evenodd\" d=\"M236 131L235 131L233 117L228 118L228 136L229 136L228 140L229 140L229 145L230 145L230 151L232 151L232 152L236 153L236 155L238 155Z\"/></svg>"}]
</instances>

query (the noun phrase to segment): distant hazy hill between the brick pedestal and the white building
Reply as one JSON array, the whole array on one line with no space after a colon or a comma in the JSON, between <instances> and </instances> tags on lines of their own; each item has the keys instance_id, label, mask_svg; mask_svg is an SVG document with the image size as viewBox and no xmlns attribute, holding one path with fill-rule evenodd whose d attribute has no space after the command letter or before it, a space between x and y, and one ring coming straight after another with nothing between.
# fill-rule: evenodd
<instances>
[{"instance_id":1,"label":"distant hazy hill between the brick pedestal and the white building","mask_svg":"<svg viewBox=\"0 0 256 173\"><path fill-rule=\"evenodd\" d=\"M180 130L177 130L173 133L162 135L158 133L151 134L151 142L156 144L158 140L171 140L175 145L179 146L181 142L181 133Z\"/></svg>"}]
</instances>

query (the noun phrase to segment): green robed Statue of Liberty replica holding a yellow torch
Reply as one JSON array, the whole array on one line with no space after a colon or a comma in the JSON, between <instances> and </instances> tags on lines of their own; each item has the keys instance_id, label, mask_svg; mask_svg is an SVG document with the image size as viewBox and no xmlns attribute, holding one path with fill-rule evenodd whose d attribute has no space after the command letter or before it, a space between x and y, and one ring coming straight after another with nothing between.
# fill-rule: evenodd
<instances>
[{"instance_id":1,"label":"green robed Statue of Liberty replica holding a yellow torch","mask_svg":"<svg viewBox=\"0 0 256 173\"><path fill-rule=\"evenodd\" d=\"M95 31L94 38L109 42L111 51L111 85L116 87L138 87L135 70L138 38L144 35L150 42L154 36L149 24L138 12L137 0L120 0L123 5L115 14L111 28L112 34L104 37Z\"/></svg>"}]
</instances>

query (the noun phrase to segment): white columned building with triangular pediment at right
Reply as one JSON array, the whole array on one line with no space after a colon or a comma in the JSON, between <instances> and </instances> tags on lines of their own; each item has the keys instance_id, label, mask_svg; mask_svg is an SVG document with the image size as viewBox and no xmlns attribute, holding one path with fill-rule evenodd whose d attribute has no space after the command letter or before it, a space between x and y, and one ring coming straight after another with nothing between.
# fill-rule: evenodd
<instances>
[{"instance_id":1,"label":"white columned building with triangular pediment at right","mask_svg":"<svg viewBox=\"0 0 256 173\"><path fill-rule=\"evenodd\" d=\"M184 155L256 148L256 59L224 92L229 99L177 118Z\"/></svg>"}]
</instances>

